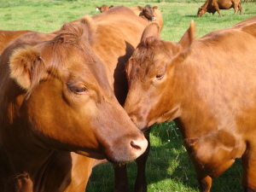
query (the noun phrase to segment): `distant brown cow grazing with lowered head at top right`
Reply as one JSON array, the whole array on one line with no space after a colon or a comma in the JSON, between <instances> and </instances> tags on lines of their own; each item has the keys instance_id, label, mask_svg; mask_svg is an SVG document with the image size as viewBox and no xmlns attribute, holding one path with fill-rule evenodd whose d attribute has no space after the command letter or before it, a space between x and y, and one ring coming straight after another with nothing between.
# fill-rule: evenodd
<instances>
[{"instance_id":1,"label":"distant brown cow grazing with lowered head at top right","mask_svg":"<svg viewBox=\"0 0 256 192\"><path fill-rule=\"evenodd\" d=\"M204 15L206 12L214 15L215 12L218 11L219 16L222 17L220 9L231 8L235 9L234 15L238 12L238 10L240 11L241 15L241 0L207 0L207 2L198 9L197 16L201 17L201 15Z\"/></svg>"}]
</instances>

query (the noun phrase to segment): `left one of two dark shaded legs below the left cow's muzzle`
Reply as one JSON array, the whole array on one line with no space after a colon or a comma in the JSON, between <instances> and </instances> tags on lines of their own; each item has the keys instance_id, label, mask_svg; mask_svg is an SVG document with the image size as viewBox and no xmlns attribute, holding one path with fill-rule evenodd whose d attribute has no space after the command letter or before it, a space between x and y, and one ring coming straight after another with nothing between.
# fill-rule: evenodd
<instances>
[{"instance_id":1,"label":"left one of two dark shaded legs below the left cow's muzzle","mask_svg":"<svg viewBox=\"0 0 256 192\"><path fill-rule=\"evenodd\" d=\"M113 164L114 192L128 192L128 177L126 164Z\"/></svg>"}]
</instances>

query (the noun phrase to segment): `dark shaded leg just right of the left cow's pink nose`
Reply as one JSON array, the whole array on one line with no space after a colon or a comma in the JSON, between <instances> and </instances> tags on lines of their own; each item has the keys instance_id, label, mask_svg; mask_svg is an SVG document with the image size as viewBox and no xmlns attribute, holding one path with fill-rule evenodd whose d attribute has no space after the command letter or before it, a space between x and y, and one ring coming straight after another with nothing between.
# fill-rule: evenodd
<instances>
[{"instance_id":1,"label":"dark shaded leg just right of the left cow's pink nose","mask_svg":"<svg viewBox=\"0 0 256 192\"><path fill-rule=\"evenodd\" d=\"M147 180L146 180L146 162L148 160L148 153L150 149L150 141L149 141L149 133L151 131L151 127L148 127L146 131L144 131L144 136L148 140L148 148L139 156L136 160L137 162L137 177L135 183L135 192L146 192L147 188Z\"/></svg>"}]
</instances>

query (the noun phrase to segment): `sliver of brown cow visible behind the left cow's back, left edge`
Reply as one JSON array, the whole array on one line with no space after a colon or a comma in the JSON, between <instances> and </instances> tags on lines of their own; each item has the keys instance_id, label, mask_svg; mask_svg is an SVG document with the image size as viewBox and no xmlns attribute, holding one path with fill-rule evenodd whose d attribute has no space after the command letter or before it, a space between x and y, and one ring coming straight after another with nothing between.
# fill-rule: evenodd
<instances>
[{"instance_id":1,"label":"sliver of brown cow visible behind the left cow's back, left edge","mask_svg":"<svg viewBox=\"0 0 256 192\"><path fill-rule=\"evenodd\" d=\"M20 30L20 31L6 31L6 30L0 30L0 55L3 53L3 49L15 38L20 37L23 34L26 34L28 30Z\"/></svg>"}]
</instances>

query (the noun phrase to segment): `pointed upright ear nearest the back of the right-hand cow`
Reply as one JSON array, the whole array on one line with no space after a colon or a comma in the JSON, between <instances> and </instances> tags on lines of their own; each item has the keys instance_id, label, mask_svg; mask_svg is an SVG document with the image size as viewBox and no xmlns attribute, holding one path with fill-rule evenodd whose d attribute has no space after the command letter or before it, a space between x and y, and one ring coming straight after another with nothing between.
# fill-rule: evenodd
<instances>
[{"instance_id":1,"label":"pointed upright ear nearest the back of the right-hand cow","mask_svg":"<svg viewBox=\"0 0 256 192\"><path fill-rule=\"evenodd\" d=\"M179 44L183 49L189 48L195 39L195 22L191 20L189 29L183 34L183 37L180 39Z\"/></svg>"}]
</instances>

